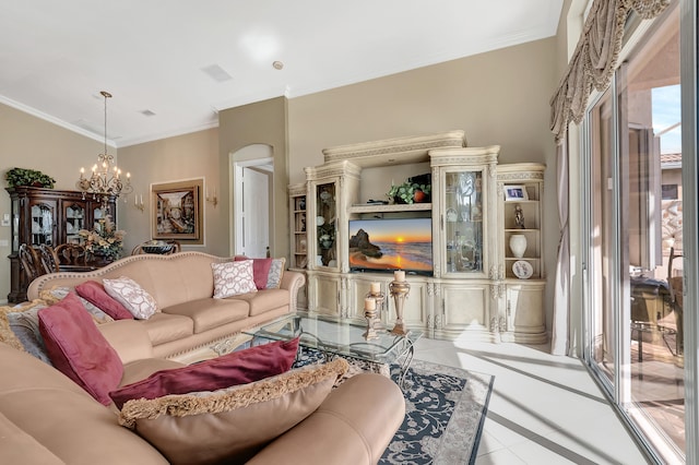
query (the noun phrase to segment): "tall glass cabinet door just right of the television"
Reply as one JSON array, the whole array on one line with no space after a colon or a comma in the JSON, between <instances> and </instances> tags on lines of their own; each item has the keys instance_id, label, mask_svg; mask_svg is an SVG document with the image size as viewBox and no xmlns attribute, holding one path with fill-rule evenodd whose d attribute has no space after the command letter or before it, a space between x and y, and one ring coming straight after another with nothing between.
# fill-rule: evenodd
<instances>
[{"instance_id":1,"label":"tall glass cabinet door just right of the television","mask_svg":"<svg viewBox=\"0 0 699 465\"><path fill-rule=\"evenodd\" d=\"M482 273L483 172L446 172L443 208L446 272Z\"/></svg>"}]
</instances>

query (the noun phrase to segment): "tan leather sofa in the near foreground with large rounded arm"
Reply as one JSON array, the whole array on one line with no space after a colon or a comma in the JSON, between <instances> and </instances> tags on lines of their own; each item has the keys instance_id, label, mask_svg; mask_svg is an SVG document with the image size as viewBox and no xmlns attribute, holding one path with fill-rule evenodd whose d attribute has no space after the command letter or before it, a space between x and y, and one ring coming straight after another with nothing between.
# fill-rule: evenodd
<instances>
[{"instance_id":1,"label":"tan leather sofa in the near foreground with large rounded arm","mask_svg":"<svg viewBox=\"0 0 699 465\"><path fill-rule=\"evenodd\" d=\"M133 321L117 323L103 325L103 334L121 359L129 360L121 385L181 366L167 359L139 358L151 355L147 336L139 331L142 326ZM114 404L102 405L48 363L0 343L0 372L1 464L168 463L146 440L119 426ZM405 401L395 383L380 374L357 374L247 463L374 464L403 421L404 412Z\"/></svg>"}]
</instances>

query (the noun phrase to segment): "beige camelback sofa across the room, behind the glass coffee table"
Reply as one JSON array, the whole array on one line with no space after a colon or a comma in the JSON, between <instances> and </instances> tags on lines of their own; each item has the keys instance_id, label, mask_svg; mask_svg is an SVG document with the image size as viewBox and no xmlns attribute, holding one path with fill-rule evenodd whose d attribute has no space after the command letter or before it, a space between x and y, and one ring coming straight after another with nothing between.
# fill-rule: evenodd
<instances>
[{"instance_id":1,"label":"beige camelback sofa across the room, behind the glass coffee table","mask_svg":"<svg viewBox=\"0 0 699 465\"><path fill-rule=\"evenodd\" d=\"M40 276L29 285L27 298L38 299L44 290L72 288L88 279L100 282L128 276L157 302L157 313L135 322L145 329L153 355L182 359L192 351L234 341L241 330L296 311L298 290L305 277L291 271L284 271L280 288L214 299L211 264L229 260L202 252L133 255L90 273L61 272ZM116 323L133 324L134 321Z\"/></svg>"}]
</instances>

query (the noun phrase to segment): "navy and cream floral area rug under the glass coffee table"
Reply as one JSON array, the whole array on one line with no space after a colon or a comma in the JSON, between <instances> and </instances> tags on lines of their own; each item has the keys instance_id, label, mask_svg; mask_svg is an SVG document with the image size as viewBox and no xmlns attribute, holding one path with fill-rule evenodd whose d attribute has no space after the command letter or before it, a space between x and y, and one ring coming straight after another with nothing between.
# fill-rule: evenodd
<instances>
[{"instance_id":1,"label":"navy and cream floral area rug under the glass coffee table","mask_svg":"<svg viewBox=\"0 0 699 465\"><path fill-rule=\"evenodd\" d=\"M297 366L321 361L304 349ZM400 369L390 367L398 381ZM405 420L380 464L473 464L495 378L489 374L413 360L405 378Z\"/></svg>"}]
</instances>

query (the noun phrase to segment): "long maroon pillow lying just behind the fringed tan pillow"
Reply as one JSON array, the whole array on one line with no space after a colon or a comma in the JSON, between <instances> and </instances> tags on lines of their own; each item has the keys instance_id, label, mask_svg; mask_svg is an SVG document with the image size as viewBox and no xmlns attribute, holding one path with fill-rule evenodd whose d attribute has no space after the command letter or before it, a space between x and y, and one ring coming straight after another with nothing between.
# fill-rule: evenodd
<instances>
[{"instance_id":1,"label":"long maroon pillow lying just behind the fringed tan pillow","mask_svg":"<svg viewBox=\"0 0 699 465\"><path fill-rule=\"evenodd\" d=\"M149 378L109 393L117 408L134 398L147 401L168 394L216 391L260 381L292 368L298 350L298 337L277 341L182 368L161 370Z\"/></svg>"}]
</instances>

